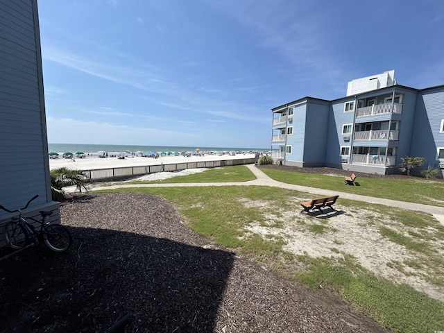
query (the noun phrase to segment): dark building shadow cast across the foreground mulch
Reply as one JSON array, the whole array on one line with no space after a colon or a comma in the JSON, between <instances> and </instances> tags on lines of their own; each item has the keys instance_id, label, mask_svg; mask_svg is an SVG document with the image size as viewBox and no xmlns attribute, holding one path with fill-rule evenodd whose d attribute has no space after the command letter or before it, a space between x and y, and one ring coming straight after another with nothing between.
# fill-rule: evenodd
<instances>
[{"instance_id":1,"label":"dark building shadow cast across the foreground mulch","mask_svg":"<svg viewBox=\"0 0 444 333\"><path fill-rule=\"evenodd\" d=\"M70 228L67 253L43 244L0 266L1 332L212 332L234 255L115 230Z\"/></svg>"}]
</instances>

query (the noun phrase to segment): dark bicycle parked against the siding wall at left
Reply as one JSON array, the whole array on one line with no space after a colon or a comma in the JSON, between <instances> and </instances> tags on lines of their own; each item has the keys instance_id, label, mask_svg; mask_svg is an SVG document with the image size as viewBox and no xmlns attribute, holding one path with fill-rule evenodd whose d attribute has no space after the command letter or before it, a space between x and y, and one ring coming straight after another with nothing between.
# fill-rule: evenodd
<instances>
[{"instance_id":1,"label":"dark bicycle parked against the siding wall at left","mask_svg":"<svg viewBox=\"0 0 444 333\"><path fill-rule=\"evenodd\" d=\"M22 210L26 210L31 201L37 197L38 194L31 198L25 207L18 210L8 210L0 205L0 209L6 212L19 212L19 216L13 217L4 227L3 237L6 244L14 250L20 250L26 246L35 246L43 241L44 244L54 252L64 252L68 250L72 244L72 237L69 230L63 225L45 222L46 217L53 214L52 211L40 211L40 220L30 216L24 216L22 213ZM36 228L29 223L29 220L40 223L40 228Z\"/></svg>"}]
</instances>

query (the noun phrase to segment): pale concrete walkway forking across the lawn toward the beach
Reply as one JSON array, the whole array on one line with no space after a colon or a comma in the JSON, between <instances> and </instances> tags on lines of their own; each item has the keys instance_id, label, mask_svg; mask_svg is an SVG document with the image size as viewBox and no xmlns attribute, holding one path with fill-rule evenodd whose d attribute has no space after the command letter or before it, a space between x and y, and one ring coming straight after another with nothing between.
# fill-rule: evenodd
<instances>
[{"instance_id":1,"label":"pale concrete walkway forking across the lawn toward the beach","mask_svg":"<svg viewBox=\"0 0 444 333\"><path fill-rule=\"evenodd\" d=\"M248 164L246 165L246 167L248 167L248 169L250 169L255 174L257 179L250 180L248 182L197 182L197 183L176 183L176 184L111 185L106 187L94 187L91 190L94 191L100 189L117 189L117 188L130 188L130 187L196 187L196 186L251 186L251 185L270 186L270 187L280 187L282 189L296 189L297 191L314 194L314 196L339 195L339 198L364 201L366 203L378 203L380 205L402 208L403 210L427 212L433 214L435 219L440 221L440 223L444 224L444 207L422 205L420 203L407 203L405 201L375 198L373 196L361 196L359 194L350 194L340 191L330 191L328 189L317 189L315 187L287 184L269 178L254 164Z\"/></svg>"}]
</instances>

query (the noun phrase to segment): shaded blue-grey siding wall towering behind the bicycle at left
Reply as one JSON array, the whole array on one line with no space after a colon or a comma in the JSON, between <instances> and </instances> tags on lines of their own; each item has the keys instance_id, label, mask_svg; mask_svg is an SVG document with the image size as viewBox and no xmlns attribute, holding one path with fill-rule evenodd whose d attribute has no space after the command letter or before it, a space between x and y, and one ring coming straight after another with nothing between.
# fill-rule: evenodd
<instances>
[{"instance_id":1,"label":"shaded blue-grey siding wall towering behind the bicycle at left","mask_svg":"<svg viewBox=\"0 0 444 333\"><path fill-rule=\"evenodd\" d=\"M0 0L0 204L51 201L36 0ZM9 215L0 210L0 224Z\"/></svg>"}]
</instances>

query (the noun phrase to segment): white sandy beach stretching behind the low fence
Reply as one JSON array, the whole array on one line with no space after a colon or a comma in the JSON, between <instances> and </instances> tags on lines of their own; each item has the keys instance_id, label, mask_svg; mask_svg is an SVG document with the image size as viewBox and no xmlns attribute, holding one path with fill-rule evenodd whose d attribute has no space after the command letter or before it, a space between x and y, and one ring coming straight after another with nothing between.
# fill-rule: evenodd
<instances>
[{"instance_id":1,"label":"white sandy beach stretching behind the low fence","mask_svg":"<svg viewBox=\"0 0 444 333\"><path fill-rule=\"evenodd\" d=\"M246 158L255 158L253 153L236 154L236 155L191 155L190 157L179 156L160 156L159 158L153 157L141 157L141 156L128 156L123 160L119 160L117 157L105 157L99 158L97 156L86 156L83 158L62 158L49 159L49 169L57 169L61 167L67 167L75 170L98 170L98 169L110 169L119 167L141 167L148 165L160 165L160 164L176 164L184 162L206 162L206 161L221 161L221 160L242 160Z\"/></svg>"}]
</instances>

